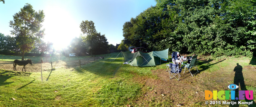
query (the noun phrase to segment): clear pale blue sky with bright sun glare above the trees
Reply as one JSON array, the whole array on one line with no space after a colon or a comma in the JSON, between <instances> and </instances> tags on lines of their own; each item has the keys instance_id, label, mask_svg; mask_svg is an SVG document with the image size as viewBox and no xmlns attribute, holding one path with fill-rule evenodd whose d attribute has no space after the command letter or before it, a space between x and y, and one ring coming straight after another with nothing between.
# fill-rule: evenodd
<instances>
[{"instance_id":1,"label":"clear pale blue sky with bright sun glare above the trees","mask_svg":"<svg viewBox=\"0 0 256 107\"><path fill-rule=\"evenodd\" d=\"M82 34L82 21L93 21L97 32L105 34L109 44L120 44L124 39L123 25L141 12L155 6L155 0L5 0L0 2L0 33L11 35L9 22L26 3L45 14L45 42L55 49L67 47L70 41Z\"/></svg>"}]
</instances>

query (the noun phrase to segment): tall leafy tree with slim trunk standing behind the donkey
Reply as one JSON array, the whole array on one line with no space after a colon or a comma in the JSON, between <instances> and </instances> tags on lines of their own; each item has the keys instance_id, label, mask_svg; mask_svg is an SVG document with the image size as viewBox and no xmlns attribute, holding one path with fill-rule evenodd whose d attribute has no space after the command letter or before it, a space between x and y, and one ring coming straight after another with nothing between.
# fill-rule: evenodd
<instances>
[{"instance_id":1,"label":"tall leafy tree with slim trunk standing behind the donkey","mask_svg":"<svg viewBox=\"0 0 256 107\"><path fill-rule=\"evenodd\" d=\"M26 4L20 11L13 15L13 21L10 21L11 34L16 36L16 44L22 52L22 60L24 53L34 49L35 41L43 38L44 29L41 23L44 21L43 10L35 12L31 4Z\"/></svg>"}]
</instances>

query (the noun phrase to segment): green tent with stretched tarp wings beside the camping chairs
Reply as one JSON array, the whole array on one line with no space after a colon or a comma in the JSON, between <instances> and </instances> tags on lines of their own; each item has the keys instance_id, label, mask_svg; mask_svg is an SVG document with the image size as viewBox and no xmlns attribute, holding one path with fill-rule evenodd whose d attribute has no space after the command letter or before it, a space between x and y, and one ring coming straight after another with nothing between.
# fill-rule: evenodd
<instances>
[{"instance_id":1,"label":"green tent with stretched tarp wings beside the camping chairs","mask_svg":"<svg viewBox=\"0 0 256 107\"><path fill-rule=\"evenodd\" d=\"M148 53L143 52L122 52L124 55L124 61L128 62L131 66L156 66L161 63L161 58L168 59L168 50L163 51L152 51Z\"/></svg>"}]
</instances>

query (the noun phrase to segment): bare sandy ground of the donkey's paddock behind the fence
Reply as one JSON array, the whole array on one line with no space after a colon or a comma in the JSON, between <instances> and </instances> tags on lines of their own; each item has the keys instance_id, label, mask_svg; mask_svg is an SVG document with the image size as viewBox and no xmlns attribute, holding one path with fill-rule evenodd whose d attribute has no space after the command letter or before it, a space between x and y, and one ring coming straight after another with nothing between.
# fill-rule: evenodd
<instances>
[{"instance_id":1,"label":"bare sandy ground of the donkey's paddock behind the fence","mask_svg":"<svg viewBox=\"0 0 256 107\"><path fill-rule=\"evenodd\" d=\"M95 60L97 61L100 59L100 57L95 57ZM85 65L87 63L94 62L94 57L88 57L81 59L81 66ZM32 61L33 63L33 61ZM52 66L51 66L52 65ZM79 60L74 61L54 61L54 62L44 62L42 63L42 69L52 69L52 68L59 68L64 67L66 69L75 68L77 66L80 66ZM6 69L6 70L13 70L13 62L9 61L0 61L0 69ZM22 71L22 66L16 66L17 71ZM24 69L23 69L24 70ZM28 72L40 72L41 71L41 63L33 63L33 65L26 65L26 71Z\"/></svg>"}]
</instances>

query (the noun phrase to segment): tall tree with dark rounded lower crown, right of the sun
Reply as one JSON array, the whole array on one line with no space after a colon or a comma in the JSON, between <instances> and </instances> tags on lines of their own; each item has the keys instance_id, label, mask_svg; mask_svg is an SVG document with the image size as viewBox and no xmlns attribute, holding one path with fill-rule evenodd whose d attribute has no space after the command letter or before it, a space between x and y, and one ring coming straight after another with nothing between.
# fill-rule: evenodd
<instances>
[{"instance_id":1,"label":"tall tree with dark rounded lower crown, right of the sun","mask_svg":"<svg viewBox=\"0 0 256 107\"><path fill-rule=\"evenodd\" d=\"M82 21L80 24L81 31L84 35L81 37L86 44L87 50L94 54L103 54L108 52L107 38L104 35L98 33L95 29L93 21Z\"/></svg>"}]
</instances>

